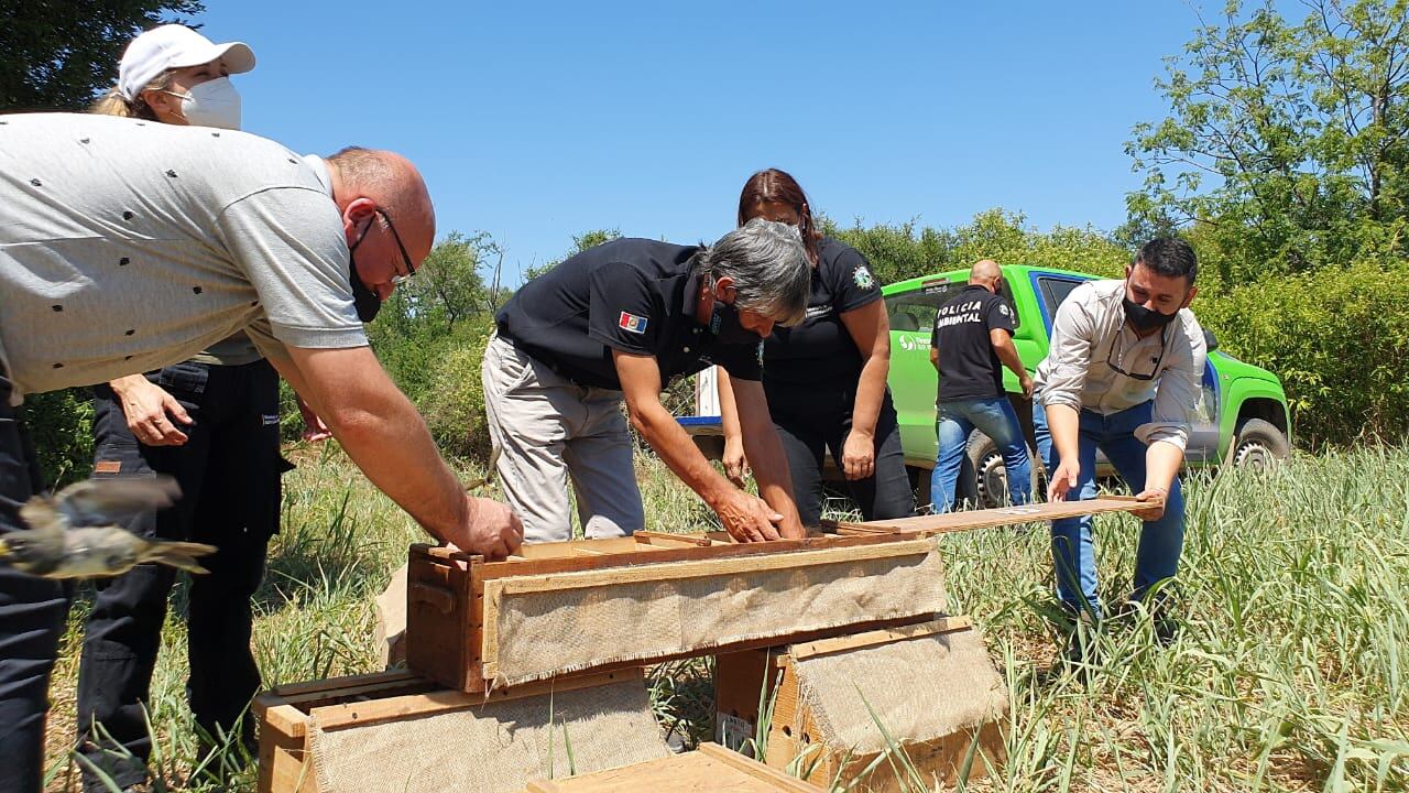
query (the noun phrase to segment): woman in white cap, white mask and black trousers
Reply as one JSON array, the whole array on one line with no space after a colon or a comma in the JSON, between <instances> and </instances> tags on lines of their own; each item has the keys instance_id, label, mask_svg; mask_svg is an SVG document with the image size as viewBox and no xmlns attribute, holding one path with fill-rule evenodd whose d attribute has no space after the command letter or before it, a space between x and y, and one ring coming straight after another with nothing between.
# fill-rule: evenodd
<instances>
[{"instance_id":1,"label":"woman in white cap, white mask and black trousers","mask_svg":"<svg viewBox=\"0 0 1409 793\"><path fill-rule=\"evenodd\" d=\"M254 65L244 44L214 44L183 25L162 25L132 40L117 86L93 111L238 130L240 95L228 75ZM252 746L247 707L261 679L249 649L249 601L279 528L286 466L279 457L278 375L240 332L189 361L94 388L93 442L97 477L158 473L180 484L176 507L138 516L132 532L220 549L207 557L210 574L192 579L186 691L204 741L240 730ZM104 775L121 789L148 776L145 704L173 583L169 569L142 564L97 584L79 662L87 790L108 790Z\"/></svg>"}]
</instances>

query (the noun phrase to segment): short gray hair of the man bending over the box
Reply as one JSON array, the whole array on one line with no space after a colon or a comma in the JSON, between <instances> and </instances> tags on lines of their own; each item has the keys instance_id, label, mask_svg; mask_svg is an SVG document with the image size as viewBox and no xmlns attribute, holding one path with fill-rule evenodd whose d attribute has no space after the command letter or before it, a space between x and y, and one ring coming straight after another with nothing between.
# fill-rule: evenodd
<instances>
[{"instance_id":1,"label":"short gray hair of the man bending over the box","mask_svg":"<svg viewBox=\"0 0 1409 793\"><path fill-rule=\"evenodd\" d=\"M695 257L695 272L713 281L734 279L740 310L758 312L778 325L807 316L812 265L797 229L755 217L724 234Z\"/></svg>"}]
</instances>

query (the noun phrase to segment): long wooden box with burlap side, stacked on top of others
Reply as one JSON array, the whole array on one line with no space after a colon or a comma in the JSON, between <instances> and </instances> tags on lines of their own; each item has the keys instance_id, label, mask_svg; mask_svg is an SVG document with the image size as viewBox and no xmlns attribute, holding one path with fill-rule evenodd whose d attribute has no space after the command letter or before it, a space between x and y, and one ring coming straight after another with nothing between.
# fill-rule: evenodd
<instances>
[{"instance_id":1,"label":"long wooden box with burlap side, stacked on top of others","mask_svg":"<svg viewBox=\"0 0 1409 793\"><path fill-rule=\"evenodd\" d=\"M944 611L936 549L888 531L752 545L638 532L528 545L506 562L417 545L407 666L482 691L921 622Z\"/></svg>"}]
</instances>

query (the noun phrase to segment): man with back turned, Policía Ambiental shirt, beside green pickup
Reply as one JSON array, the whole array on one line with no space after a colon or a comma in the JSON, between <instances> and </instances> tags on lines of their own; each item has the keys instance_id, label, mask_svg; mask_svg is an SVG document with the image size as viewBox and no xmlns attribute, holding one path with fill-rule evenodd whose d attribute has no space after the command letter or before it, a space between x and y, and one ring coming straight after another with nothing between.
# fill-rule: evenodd
<instances>
[{"instance_id":1,"label":"man with back turned, Polic\u00eda Ambiental shirt, beside green pickup","mask_svg":"<svg viewBox=\"0 0 1409 793\"><path fill-rule=\"evenodd\" d=\"M1003 274L996 261L983 260L969 270L968 286L934 316L930 363L940 373L934 406L934 433L940 442L930 501L936 512L954 509L954 485L975 428L993 440L1007 470L1013 504L1031 501L1033 471L1017 413L1003 391L1003 365L1013 370L1023 398L1033 398L1033 378L1013 347L1013 309L998 296Z\"/></svg>"}]
</instances>

